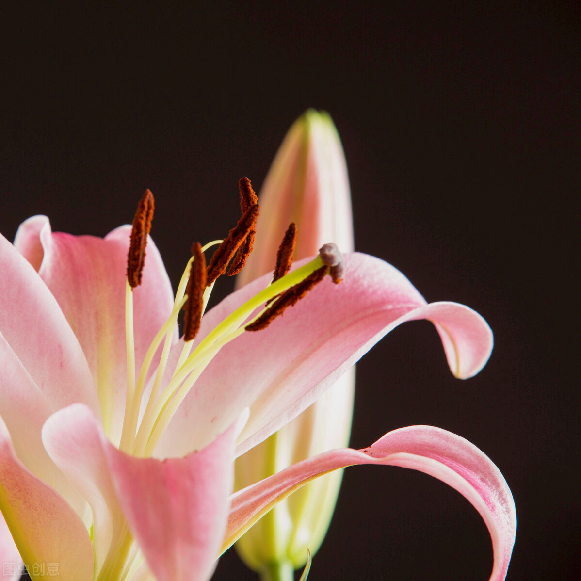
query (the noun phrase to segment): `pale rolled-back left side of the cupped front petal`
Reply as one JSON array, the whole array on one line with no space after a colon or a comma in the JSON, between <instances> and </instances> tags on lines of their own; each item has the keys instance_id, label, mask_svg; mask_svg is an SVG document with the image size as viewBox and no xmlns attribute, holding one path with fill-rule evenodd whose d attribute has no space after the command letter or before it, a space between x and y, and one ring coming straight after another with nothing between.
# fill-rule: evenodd
<instances>
[{"instance_id":1,"label":"pale rolled-back left side of the cupped front petal","mask_svg":"<svg viewBox=\"0 0 581 581\"><path fill-rule=\"evenodd\" d=\"M42 429L46 451L91 507L96 576L109 550L119 548L127 530L109 476L101 432L95 415L82 404L59 410Z\"/></svg>"}]
</instances>

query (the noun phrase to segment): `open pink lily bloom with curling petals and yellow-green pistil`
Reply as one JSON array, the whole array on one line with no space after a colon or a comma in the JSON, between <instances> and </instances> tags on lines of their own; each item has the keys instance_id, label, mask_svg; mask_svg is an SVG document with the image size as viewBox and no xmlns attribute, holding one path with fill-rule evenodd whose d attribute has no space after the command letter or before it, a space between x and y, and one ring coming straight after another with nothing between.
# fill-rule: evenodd
<instances>
[{"instance_id":1,"label":"open pink lily bloom with curling petals and yellow-green pistil","mask_svg":"<svg viewBox=\"0 0 581 581\"><path fill-rule=\"evenodd\" d=\"M345 280L333 284L328 258L317 256L270 286L267 275L239 289L203 316L195 339L190 322L178 340L190 269L174 299L146 229L137 238L130 257L141 261L149 240L140 286L131 266L126 275L130 227L71 236L36 216L14 245L0 236L0 509L12 536L0 536L2 557L15 544L33 579L55 567L61 579L208 579L221 551L279 498L329 470L376 463L427 472L467 497L492 537L491 579L504 578L516 526L510 490L482 452L437 428L390 432L231 494L234 458L401 322L429 318L453 373L477 373L492 348L482 317L426 304L403 274L364 254L347 255ZM319 275L261 327L255 314L267 300L297 298ZM200 295L205 281L193 280L190 317L211 289Z\"/></svg>"}]
</instances>

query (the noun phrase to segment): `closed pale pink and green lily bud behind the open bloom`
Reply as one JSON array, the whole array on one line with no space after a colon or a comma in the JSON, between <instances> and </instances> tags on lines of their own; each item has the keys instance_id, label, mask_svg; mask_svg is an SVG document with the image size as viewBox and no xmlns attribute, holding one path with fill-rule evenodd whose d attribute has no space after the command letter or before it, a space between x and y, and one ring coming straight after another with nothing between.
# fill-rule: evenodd
<instances>
[{"instance_id":1,"label":"closed pale pink and green lily bud behind the open bloom","mask_svg":"<svg viewBox=\"0 0 581 581\"><path fill-rule=\"evenodd\" d=\"M353 250L353 220L345 155L331 117L309 109L290 128L259 195L254 251L236 285L273 271L277 248L296 223L296 260L335 242ZM242 489L293 463L349 443L354 368L296 419L236 460ZM319 478L275 506L236 543L242 560L264 579L292 578L314 554L331 522L342 471Z\"/></svg>"}]
</instances>

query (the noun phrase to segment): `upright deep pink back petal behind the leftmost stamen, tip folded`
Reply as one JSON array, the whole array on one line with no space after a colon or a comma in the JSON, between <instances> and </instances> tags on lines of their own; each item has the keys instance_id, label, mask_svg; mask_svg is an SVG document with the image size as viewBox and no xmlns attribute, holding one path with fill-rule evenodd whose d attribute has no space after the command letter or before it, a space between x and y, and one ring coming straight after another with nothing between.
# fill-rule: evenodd
<instances>
[{"instance_id":1,"label":"upright deep pink back petal behind the leftmost stamen, tip folded","mask_svg":"<svg viewBox=\"0 0 581 581\"><path fill-rule=\"evenodd\" d=\"M127 383L125 280L130 233L129 226L122 226L105 239L53 234L48 218L34 216L20 225L15 238L16 248L38 268L83 347L105 431L115 443L121 434ZM143 284L134 291L137 370L173 306L171 284L151 239L146 253Z\"/></svg>"}]
</instances>

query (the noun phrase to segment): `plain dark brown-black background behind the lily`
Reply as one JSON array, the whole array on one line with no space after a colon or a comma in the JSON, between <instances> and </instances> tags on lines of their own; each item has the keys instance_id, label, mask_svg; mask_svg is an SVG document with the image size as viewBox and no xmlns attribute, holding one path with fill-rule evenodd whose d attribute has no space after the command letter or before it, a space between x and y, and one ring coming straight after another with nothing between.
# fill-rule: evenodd
<instances>
[{"instance_id":1,"label":"plain dark brown-black background behind the lily","mask_svg":"<svg viewBox=\"0 0 581 581\"><path fill-rule=\"evenodd\" d=\"M277 5L278 6L278 5ZM508 579L578 567L579 6L549 2L2 3L0 231L48 214L105 235L156 196L174 287L196 239L235 223L286 130L326 109L356 246L428 300L481 313L496 345L458 381L429 323L358 365L352 446L432 424L503 472ZM1 275L1 273L0 273ZM223 281L218 293L227 293ZM310 579L487 579L478 513L435 479L347 469ZM254 579L233 551L216 579Z\"/></svg>"}]
</instances>

